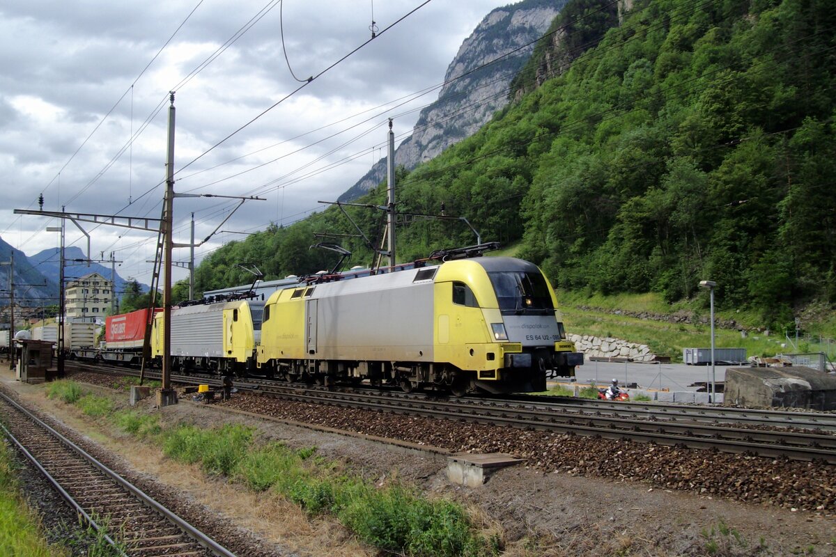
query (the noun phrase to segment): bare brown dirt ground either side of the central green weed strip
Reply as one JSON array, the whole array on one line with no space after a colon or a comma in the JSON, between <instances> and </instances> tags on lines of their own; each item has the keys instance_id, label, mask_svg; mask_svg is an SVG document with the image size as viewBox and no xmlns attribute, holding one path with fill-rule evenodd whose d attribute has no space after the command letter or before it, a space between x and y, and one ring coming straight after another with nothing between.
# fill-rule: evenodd
<instances>
[{"instance_id":1,"label":"bare brown dirt ground either side of the central green weed strip","mask_svg":"<svg viewBox=\"0 0 836 557\"><path fill-rule=\"evenodd\" d=\"M331 519L309 521L292 504L248 494L222 479L206 479L195 467L167 460L158 448L102 430L76 408L44 397L43 386L15 382L5 370L0 381L28 403L119 454L138 472L181 490L184 496L289 551L303 555L375 554ZM127 394L121 397L127 403ZM160 412L168 422L185 420L207 428L246 423L257 428L263 438L281 439L295 447L316 446L320 454L344 462L366 478L383 483L394 477L428 494L461 501L487 529L501 530L507 555L836 555L833 517L711 499L635 482L541 473L524 464L502 469L487 484L469 489L447 480L446 457L439 454L410 452L189 401L158 411L146 400L140 408Z\"/></svg>"}]
</instances>

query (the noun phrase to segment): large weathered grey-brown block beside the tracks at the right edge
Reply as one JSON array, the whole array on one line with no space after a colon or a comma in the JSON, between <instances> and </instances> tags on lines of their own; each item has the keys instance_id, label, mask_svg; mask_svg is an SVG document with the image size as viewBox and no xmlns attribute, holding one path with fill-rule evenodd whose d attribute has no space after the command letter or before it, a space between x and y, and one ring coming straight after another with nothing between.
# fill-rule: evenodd
<instances>
[{"instance_id":1,"label":"large weathered grey-brown block beside the tracks at the right edge","mask_svg":"<svg viewBox=\"0 0 836 557\"><path fill-rule=\"evenodd\" d=\"M729 367L723 404L836 410L836 376L811 367Z\"/></svg>"}]
</instances>

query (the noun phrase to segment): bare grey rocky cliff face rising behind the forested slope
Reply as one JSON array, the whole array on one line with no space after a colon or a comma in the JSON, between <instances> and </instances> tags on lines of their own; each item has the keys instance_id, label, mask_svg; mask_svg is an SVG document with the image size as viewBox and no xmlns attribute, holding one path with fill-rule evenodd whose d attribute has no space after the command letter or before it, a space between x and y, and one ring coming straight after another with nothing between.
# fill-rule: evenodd
<instances>
[{"instance_id":1,"label":"bare grey rocky cliff face rising behind the forested slope","mask_svg":"<svg viewBox=\"0 0 836 557\"><path fill-rule=\"evenodd\" d=\"M488 13L461 43L435 103L421 111L412 135L395 150L395 165L407 169L431 160L451 144L474 134L508 103L512 78L533 52L529 46L548 30L566 0L523 0ZM501 58L502 55L507 57ZM492 60L497 60L492 62ZM482 65L490 63L485 68ZM479 69L477 69L479 68ZM339 197L354 200L385 179L386 159L379 160Z\"/></svg>"}]
</instances>

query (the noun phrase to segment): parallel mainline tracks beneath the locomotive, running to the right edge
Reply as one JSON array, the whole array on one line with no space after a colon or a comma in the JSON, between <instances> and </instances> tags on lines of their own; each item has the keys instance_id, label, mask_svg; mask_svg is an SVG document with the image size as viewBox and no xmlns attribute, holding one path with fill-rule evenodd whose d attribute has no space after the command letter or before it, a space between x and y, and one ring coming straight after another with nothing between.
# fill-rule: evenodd
<instances>
[{"instance_id":1,"label":"parallel mainline tracks beneath the locomotive, running to the right edge","mask_svg":"<svg viewBox=\"0 0 836 557\"><path fill-rule=\"evenodd\" d=\"M126 372L126 370L120 371ZM219 385L217 377L175 376L172 381L209 382ZM820 460L836 464L836 436L827 433L803 433L787 429L803 423L798 413L741 411L740 409L690 407L675 411L661 405L615 405L614 403L565 403L543 397L445 399L396 391L349 388L341 391L327 387L283 384L247 379L235 382L242 391L258 392L306 403L327 404L344 408L364 408L378 412L401 413L426 418L445 418L471 423L537 429L559 433L599 436L609 439L630 439L646 443L711 448L725 453L751 453L767 458ZM731 412L728 412L731 410ZM749 418L749 419L743 419ZM783 418L793 418L792 421ZM706 423L711 422L711 423ZM767 425L758 429L737 427L736 423ZM725 423L725 424L723 424ZM817 414L808 427L823 429L822 424L836 427L827 414ZM778 428L776 428L778 427Z\"/></svg>"}]
</instances>

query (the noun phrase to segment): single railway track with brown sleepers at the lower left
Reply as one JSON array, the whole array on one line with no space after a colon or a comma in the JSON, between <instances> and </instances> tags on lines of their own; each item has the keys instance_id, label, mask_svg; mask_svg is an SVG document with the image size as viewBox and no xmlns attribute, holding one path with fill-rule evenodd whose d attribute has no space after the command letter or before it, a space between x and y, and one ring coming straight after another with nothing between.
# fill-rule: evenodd
<instances>
[{"instance_id":1,"label":"single railway track with brown sleepers at the lower left","mask_svg":"<svg viewBox=\"0 0 836 557\"><path fill-rule=\"evenodd\" d=\"M3 432L69 505L121 555L234 555L0 392Z\"/></svg>"}]
</instances>

